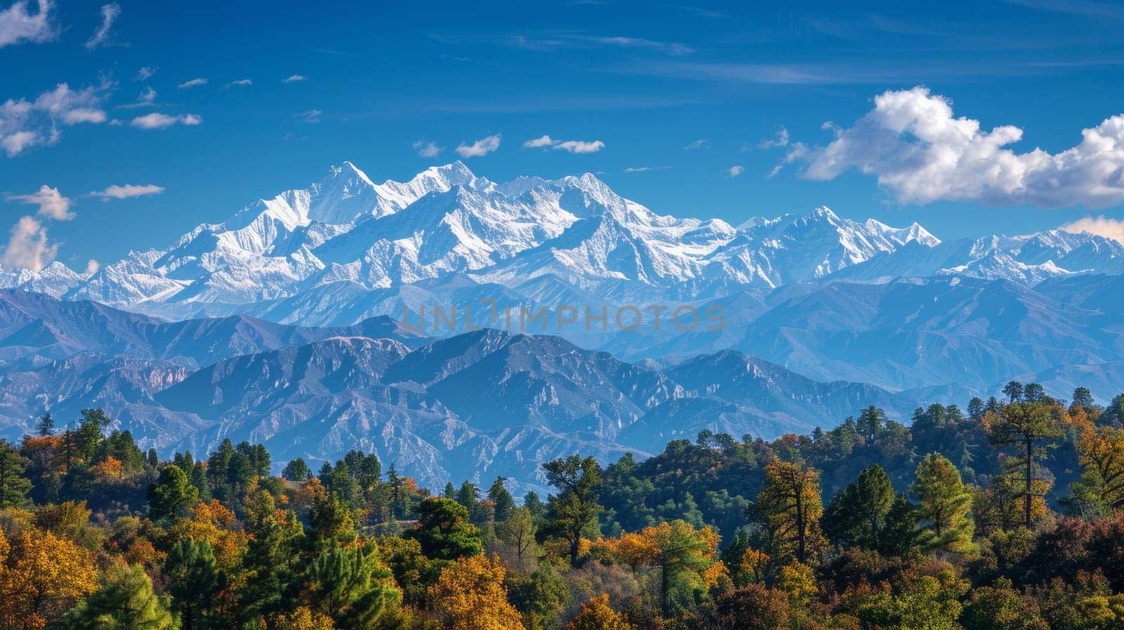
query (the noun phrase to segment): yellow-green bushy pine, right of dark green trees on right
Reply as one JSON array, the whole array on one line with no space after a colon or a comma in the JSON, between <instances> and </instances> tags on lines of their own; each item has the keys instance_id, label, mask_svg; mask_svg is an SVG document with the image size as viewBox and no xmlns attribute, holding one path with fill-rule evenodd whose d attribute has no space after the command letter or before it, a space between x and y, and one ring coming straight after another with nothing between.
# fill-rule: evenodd
<instances>
[{"instance_id":1,"label":"yellow-green bushy pine, right of dark green trees on right","mask_svg":"<svg viewBox=\"0 0 1124 630\"><path fill-rule=\"evenodd\" d=\"M975 523L969 515L972 496L960 480L960 471L939 454L921 460L909 492L921 502L923 540L926 549L953 553L969 550Z\"/></svg>"}]
</instances>

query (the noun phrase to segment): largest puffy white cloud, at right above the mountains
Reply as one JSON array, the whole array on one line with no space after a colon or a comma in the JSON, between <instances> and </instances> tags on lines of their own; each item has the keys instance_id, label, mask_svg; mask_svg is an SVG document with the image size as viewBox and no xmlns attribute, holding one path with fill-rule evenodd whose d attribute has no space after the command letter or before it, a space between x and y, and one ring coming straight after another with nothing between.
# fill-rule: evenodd
<instances>
[{"instance_id":1,"label":"largest puffy white cloud, at right above the mountains","mask_svg":"<svg viewBox=\"0 0 1124 630\"><path fill-rule=\"evenodd\" d=\"M878 177L900 202L937 200L1044 208L1100 208L1124 202L1124 115L1081 130L1081 141L1051 154L1016 153L1018 127L985 130L955 117L952 103L926 88L887 91L852 127L835 129L826 146L791 146L787 162L801 175L832 180L856 170Z\"/></svg>"}]
</instances>

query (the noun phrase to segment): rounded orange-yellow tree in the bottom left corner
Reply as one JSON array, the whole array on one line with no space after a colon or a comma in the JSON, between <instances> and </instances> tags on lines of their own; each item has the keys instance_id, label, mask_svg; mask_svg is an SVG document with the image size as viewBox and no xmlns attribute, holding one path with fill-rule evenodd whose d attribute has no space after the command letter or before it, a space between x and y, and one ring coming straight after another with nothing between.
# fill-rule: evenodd
<instances>
[{"instance_id":1,"label":"rounded orange-yellow tree in the bottom left corner","mask_svg":"<svg viewBox=\"0 0 1124 630\"><path fill-rule=\"evenodd\" d=\"M44 628L98 588L93 555L49 531L24 531L3 555L0 629Z\"/></svg>"}]
</instances>

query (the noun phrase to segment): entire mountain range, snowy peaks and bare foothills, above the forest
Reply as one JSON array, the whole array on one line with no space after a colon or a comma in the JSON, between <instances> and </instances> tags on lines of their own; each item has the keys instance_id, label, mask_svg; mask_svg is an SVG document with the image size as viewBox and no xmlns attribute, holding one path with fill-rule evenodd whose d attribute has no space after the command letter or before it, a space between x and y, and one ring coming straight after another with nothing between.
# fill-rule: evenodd
<instances>
[{"instance_id":1,"label":"entire mountain range, snowy peaks and bare foothills, above the forest","mask_svg":"<svg viewBox=\"0 0 1124 630\"><path fill-rule=\"evenodd\" d=\"M1122 274L1124 247L1090 234L941 241L828 208L733 227L590 174L498 184L457 162L375 184L344 163L91 275L0 270L0 432L98 405L165 450L363 447L432 483L535 485L555 455L907 418L1010 378L1107 400ZM510 330L505 309L545 316Z\"/></svg>"}]
</instances>

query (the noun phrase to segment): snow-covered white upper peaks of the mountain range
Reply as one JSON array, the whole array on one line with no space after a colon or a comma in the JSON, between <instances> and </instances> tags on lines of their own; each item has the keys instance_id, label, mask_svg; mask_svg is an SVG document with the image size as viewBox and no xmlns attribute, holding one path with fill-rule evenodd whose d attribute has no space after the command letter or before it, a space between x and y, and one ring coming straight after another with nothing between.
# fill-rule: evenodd
<instances>
[{"instance_id":1,"label":"snow-covered white upper peaks of the mountain range","mask_svg":"<svg viewBox=\"0 0 1124 630\"><path fill-rule=\"evenodd\" d=\"M425 300L473 301L474 292L535 303L678 303L826 277L1031 285L1087 273L1124 273L1124 247L1058 230L942 243L917 223L860 222L826 207L735 228L658 214L588 173L498 184L455 162L377 184L345 162L165 249L132 252L90 276L61 263L0 270L0 287L170 319L250 313L346 325L400 317L402 305Z\"/></svg>"}]
</instances>

